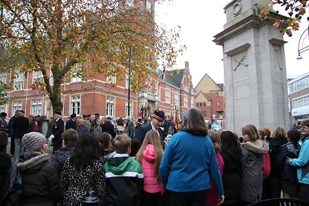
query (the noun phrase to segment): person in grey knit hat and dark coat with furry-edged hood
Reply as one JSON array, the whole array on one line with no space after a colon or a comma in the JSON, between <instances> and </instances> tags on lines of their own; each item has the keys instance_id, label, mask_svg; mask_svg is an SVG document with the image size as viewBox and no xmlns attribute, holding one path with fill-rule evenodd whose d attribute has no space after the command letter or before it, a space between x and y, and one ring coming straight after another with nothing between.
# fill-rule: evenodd
<instances>
[{"instance_id":1,"label":"person in grey knit hat and dark coat with furry-edged hood","mask_svg":"<svg viewBox=\"0 0 309 206\"><path fill-rule=\"evenodd\" d=\"M17 161L23 179L21 206L54 206L60 197L59 179L56 168L47 154L46 137L41 133L23 136L27 149Z\"/></svg>"}]
</instances>

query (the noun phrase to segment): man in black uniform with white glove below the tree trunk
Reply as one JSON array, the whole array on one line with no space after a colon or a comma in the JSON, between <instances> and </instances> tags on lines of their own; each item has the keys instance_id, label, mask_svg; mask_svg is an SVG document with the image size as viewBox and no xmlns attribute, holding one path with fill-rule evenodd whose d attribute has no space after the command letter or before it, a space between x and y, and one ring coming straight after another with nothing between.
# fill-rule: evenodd
<instances>
[{"instance_id":1,"label":"man in black uniform with white glove below the tree trunk","mask_svg":"<svg viewBox=\"0 0 309 206\"><path fill-rule=\"evenodd\" d=\"M62 146L62 138L61 134L65 130L65 123L61 119L61 113L56 111L54 113L54 124L52 125L52 135L50 135L49 139L52 139L54 147L53 154L55 151L59 150Z\"/></svg>"}]
</instances>

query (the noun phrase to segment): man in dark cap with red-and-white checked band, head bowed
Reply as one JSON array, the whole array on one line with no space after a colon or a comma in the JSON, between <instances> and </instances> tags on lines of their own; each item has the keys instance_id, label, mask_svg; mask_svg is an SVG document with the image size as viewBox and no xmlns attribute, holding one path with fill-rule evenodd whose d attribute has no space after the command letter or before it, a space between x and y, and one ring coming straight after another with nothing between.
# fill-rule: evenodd
<instances>
[{"instance_id":1,"label":"man in dark cap with red-and-white checked band, head bowed","mask_svg":"<svg viewBox=\"0 0 309 206\"><path fill-rule=\"evenodd\" d=\"M141 144L143 144L144 138L146 136L146 133L149 130L157 130L160 135L161 141L164 140L164 133L163 130L161 130L161 126L163 125L164 121L164 113L163 111L156 109L154 113L152 114L152 120L150 124L145 124L142 126L139 126L137 130L135 131L135 139L138 139Z\"/></svg>"}]
</instances>

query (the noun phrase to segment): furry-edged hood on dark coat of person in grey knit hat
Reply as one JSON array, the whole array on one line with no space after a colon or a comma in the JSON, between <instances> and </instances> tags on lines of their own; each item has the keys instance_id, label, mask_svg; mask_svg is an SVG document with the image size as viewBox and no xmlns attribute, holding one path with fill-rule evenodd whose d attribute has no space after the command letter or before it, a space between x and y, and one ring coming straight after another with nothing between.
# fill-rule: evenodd
<instances>
[{"instance_id":1,"label":"furry-edged hood on dark coat of person in grey knit hat","mask_svg":"<svg viewBox=\"0 0 309 206\"><path fill-rule=\"evenodd\" d=\"M16 166L21 172L33 173L40 170L43 165L50 159L50 155L39 152L24 152L19 157Z\"/></svg>"}]
</instances>

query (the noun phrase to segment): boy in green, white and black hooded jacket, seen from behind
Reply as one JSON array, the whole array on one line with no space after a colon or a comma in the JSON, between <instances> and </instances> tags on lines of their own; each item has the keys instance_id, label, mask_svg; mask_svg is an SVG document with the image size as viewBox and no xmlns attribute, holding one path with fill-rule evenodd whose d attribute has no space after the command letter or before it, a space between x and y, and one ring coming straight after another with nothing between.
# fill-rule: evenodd
<instances>
[{"instance_id":1,"label":"boy in green, white and black hooded jacket, seen from behind","mask_svg":"<svg viewBox=\"0 0 309 206\"><path fill-rule=\"evenodd\" d=\"M126 135L115 137L117 154L104 165L109 205L139 205L144 173L141 165L129 157L130 144Z\"/></svg>"}]
</instances>

